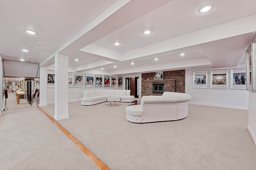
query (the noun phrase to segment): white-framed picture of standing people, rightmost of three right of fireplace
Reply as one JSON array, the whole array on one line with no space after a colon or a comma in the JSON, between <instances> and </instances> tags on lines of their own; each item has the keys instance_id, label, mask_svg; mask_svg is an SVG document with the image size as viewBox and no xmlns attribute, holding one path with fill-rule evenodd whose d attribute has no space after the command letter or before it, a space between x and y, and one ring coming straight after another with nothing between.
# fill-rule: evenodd
<instances>
[{"instance_id":1,"label":"white-framed picture of standing people, rightmost of three right of fireplace","mask_svg":"<svg viewBox=\"0 0 256 170\"><path fill-rule=\"evenodd\" d=\"M246 89L246 68L230 69L230 89Z\"/></svg>"}]
</instances>

